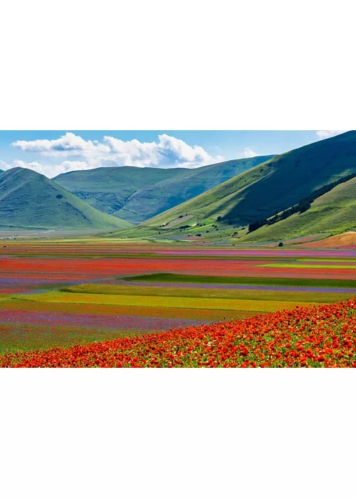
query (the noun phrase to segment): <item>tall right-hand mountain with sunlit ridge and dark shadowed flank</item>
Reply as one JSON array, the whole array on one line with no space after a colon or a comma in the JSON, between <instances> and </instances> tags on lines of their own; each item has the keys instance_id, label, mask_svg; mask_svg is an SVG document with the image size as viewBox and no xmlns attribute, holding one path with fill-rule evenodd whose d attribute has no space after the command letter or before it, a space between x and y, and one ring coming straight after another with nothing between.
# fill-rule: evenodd
<instances>
[{"instance_id":1,"label":"tall right-hand mountain with sunlit ridge and dark shadowed flank","mask_svg":"<svg viewBox=\"0 0 356 498\"><path fill-rule=\"evenodd\" d=\"M216 221L218 216L221 223L244 226L283 211L316 189L355 172L356 132L352 131L273 157L145 221L142 228L165 226L167 235L169 226L179 219L182 223L175 229L179 224Z\"/></svg>"}]
</instances>

